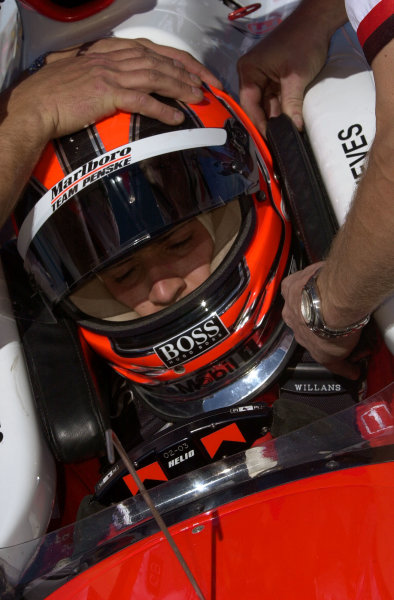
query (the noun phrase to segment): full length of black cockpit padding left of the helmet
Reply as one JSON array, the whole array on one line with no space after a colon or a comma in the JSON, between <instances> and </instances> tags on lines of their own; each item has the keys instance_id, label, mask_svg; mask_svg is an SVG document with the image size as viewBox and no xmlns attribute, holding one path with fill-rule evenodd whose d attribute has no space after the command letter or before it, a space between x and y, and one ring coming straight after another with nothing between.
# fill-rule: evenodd
<instances>
[{"instance_id":1,"label":"full length of black cockpit padding left of the helmet","mask_svg":"<svg viewBox=\"0 0 394 600\"><path fill-rule=\"evenodd\" d=\"M3 250L2 260L32 390L55 458L70 463L103 454L109 367L84 347L73 321L51 317L15 250Z\"/></svg>"}]
</instances>

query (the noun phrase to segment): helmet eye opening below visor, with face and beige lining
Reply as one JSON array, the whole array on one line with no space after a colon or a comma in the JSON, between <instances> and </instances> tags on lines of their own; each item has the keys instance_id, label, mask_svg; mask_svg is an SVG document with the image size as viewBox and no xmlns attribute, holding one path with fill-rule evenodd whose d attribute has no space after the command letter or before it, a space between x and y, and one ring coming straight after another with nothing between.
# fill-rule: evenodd
<instances>
[{"instance_id":1,"label":"helmet eye opening below visor, with face and beige lining","mask_svg":"<svg viewBox=\"0 0 394 600\"><path fill-rule=\"evenodd\" d=\"M83 283L70 300L84 314L125 321L168 308L200 287L240 230L238 202L174 226Z\"/></svg>"}]
</instances>

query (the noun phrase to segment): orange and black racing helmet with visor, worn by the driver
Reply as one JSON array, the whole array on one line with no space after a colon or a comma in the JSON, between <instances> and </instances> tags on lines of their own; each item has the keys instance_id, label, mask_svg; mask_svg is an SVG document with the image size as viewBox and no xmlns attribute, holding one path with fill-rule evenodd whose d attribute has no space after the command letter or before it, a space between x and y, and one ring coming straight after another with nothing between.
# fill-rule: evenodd
<instances>
[{"instance_id":1,"label":"orange and black racing helmet with visor, worn by the driver","mask_svg":"<svg viewBox=\"0 0 394 600\"><path fill-rule=\"evenodd\" d=\"M271 156L238 105L208 88L196 105L161 100L182 124L118 112L49 143L15 220L53 306L137 397L182 419L278 377L294 259Z\"/></svg>"}]
</instances>

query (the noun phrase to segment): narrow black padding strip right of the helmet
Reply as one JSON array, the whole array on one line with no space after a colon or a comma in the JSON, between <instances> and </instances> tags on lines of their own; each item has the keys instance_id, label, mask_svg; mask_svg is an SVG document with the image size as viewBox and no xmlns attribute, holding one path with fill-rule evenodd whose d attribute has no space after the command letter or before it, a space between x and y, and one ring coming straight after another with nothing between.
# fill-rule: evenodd
<instances>
[{"instance_id":1,"label":"narrow black padding strip right of the helmet","mask_svg":"<svg viewBox=\"0 0 394 600\"><path fill-rule=\"evenodd\" d=\"M306 138L287 115L268 120L267 141L308 260L323 260L338 225Z\"/></svg>"}]
</instances>

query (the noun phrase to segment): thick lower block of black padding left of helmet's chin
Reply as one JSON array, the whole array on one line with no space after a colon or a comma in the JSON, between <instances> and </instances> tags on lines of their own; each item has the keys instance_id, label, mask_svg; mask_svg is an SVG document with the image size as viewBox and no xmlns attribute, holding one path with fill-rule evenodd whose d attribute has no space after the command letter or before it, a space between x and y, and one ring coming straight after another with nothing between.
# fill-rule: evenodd
<instances>
[{"instance_id":1,"label":"thick lower block of black padding left of helmet's chin","mask_svg":"<svg viewBox=\"0 0 394 600\"><path fill-rule=\"evenodd\" d=\"M23 345L42 423L55 457L75 462L102 454L104 407L76 326L33 324Z\"/></svg>"}]
</instances>

